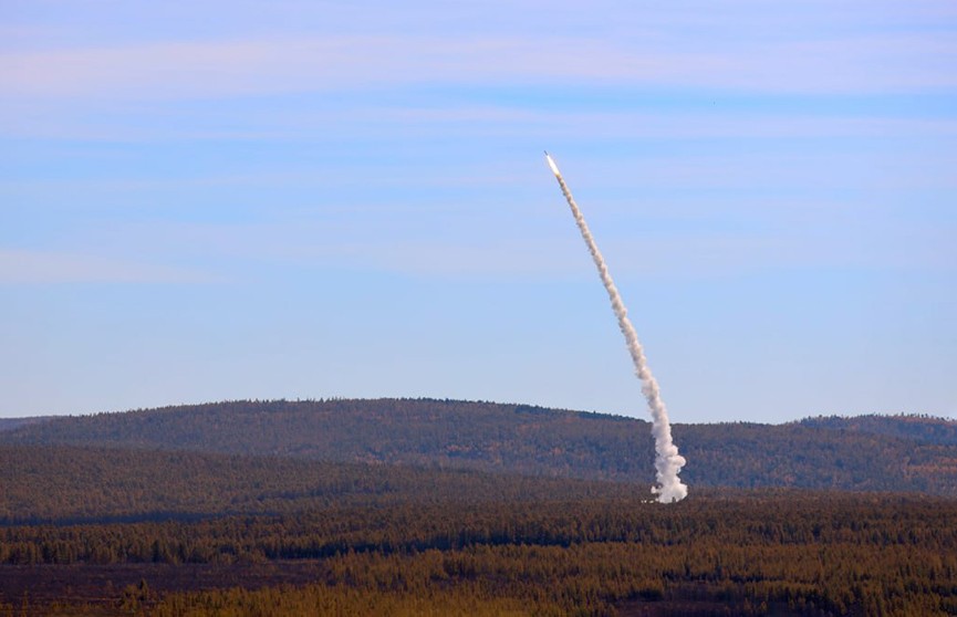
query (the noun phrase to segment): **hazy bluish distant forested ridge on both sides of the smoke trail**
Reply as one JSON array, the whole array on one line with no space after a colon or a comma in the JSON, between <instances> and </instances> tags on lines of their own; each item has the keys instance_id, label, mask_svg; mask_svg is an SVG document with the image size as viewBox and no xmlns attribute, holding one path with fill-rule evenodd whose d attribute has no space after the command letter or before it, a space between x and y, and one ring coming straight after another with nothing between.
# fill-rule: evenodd
<instances>
[{"instance_id":1,"label":"hazy bluish distant forested ridge on both sides of the smoke trail","mask_svg":"<svg viewBox=\"0 0 957 617\"><path fill-rule=\"evenodd\" d=\"M698 487L800 487L957 495L957 445L915 417L862 430L790 425L676 425ZM907 423L907 430L893 426ZM892 427L892 428L886 428ZM938 430L934 429L934 430ZM943 435L943 433L942 433ZM0 443L66 443L470 468L651 484L648 422L523 405L431 399L228 401L58 418L0 432Z\"/></svg>"}]
</instances>

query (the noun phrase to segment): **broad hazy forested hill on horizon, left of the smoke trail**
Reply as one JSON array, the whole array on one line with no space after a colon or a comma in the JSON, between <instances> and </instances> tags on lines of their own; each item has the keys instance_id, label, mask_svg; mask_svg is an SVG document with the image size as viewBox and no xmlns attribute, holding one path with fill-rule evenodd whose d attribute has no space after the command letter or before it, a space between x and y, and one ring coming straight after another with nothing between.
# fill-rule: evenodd
<instances>
[{"instance_id":1,"label":"broad hazy forested hill on horizon, left of the smoke trail","mask_svg":"<svg viewBox=\"0 0 957 617\"><path fill-rule=\"evenodd\" d=\"M176 448L257 456L439 464L593 477L608 447L606 475L651 464L648 425L615 416L522 405L431 399L229 401L60 418L0 440ZM647 461L645 460L647 459Z\"/></svg>"}]
</instances>

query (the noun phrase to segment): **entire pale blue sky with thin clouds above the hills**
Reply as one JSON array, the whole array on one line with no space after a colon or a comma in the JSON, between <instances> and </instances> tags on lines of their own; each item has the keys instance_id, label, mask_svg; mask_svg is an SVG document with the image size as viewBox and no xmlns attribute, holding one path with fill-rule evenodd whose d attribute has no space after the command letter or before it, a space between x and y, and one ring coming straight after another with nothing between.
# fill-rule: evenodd
<instances>
[{"instance_id":1,"label":"entire pale blue sky with thin clouds above the hills","mask_svg":"<svg viewBox=\"0 0 957 617\"><path fill-rule=\"evenodd\" d=\"M957 4L0 0L0 416L957 416Z\"/></svg>"}]
</instances>

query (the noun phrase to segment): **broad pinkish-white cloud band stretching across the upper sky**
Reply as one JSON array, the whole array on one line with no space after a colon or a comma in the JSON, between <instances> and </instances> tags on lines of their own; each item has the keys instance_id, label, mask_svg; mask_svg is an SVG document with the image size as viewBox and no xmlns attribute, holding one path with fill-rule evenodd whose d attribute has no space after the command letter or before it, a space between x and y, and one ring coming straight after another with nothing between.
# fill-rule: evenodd
<instances>
[{"instance_id":1,"label":"broad pinkish-white cloud band stretching across the upper sky","mask_svg":"<svg viewBox=\"0 0 957 617\"><path fill-rule=\"evenodd\" d=\"M868 35L673 49L655 40L354 35L0 54L8 97L178 100L387 84L627 83L753 92L957 86L957 41Z\"/></svg>"}]
</instances>

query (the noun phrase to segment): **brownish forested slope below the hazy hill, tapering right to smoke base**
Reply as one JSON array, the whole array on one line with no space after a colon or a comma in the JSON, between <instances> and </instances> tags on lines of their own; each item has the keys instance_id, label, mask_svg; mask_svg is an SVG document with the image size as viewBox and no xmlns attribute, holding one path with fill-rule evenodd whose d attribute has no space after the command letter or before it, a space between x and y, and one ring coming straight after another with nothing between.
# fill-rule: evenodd
<instances>
[{"instance_id":1,"label":"brownish forested slope below the hazy hill, tapering right to smoke base","mask_svg":"<svg viewBox=\"0 0 957 617\"><path fill-rule=\"evenodd\" d=\"M4 525L646 493L630 484L562 478L75 446L0 446L0 468Z\"/></svg>"}]
</instances>

